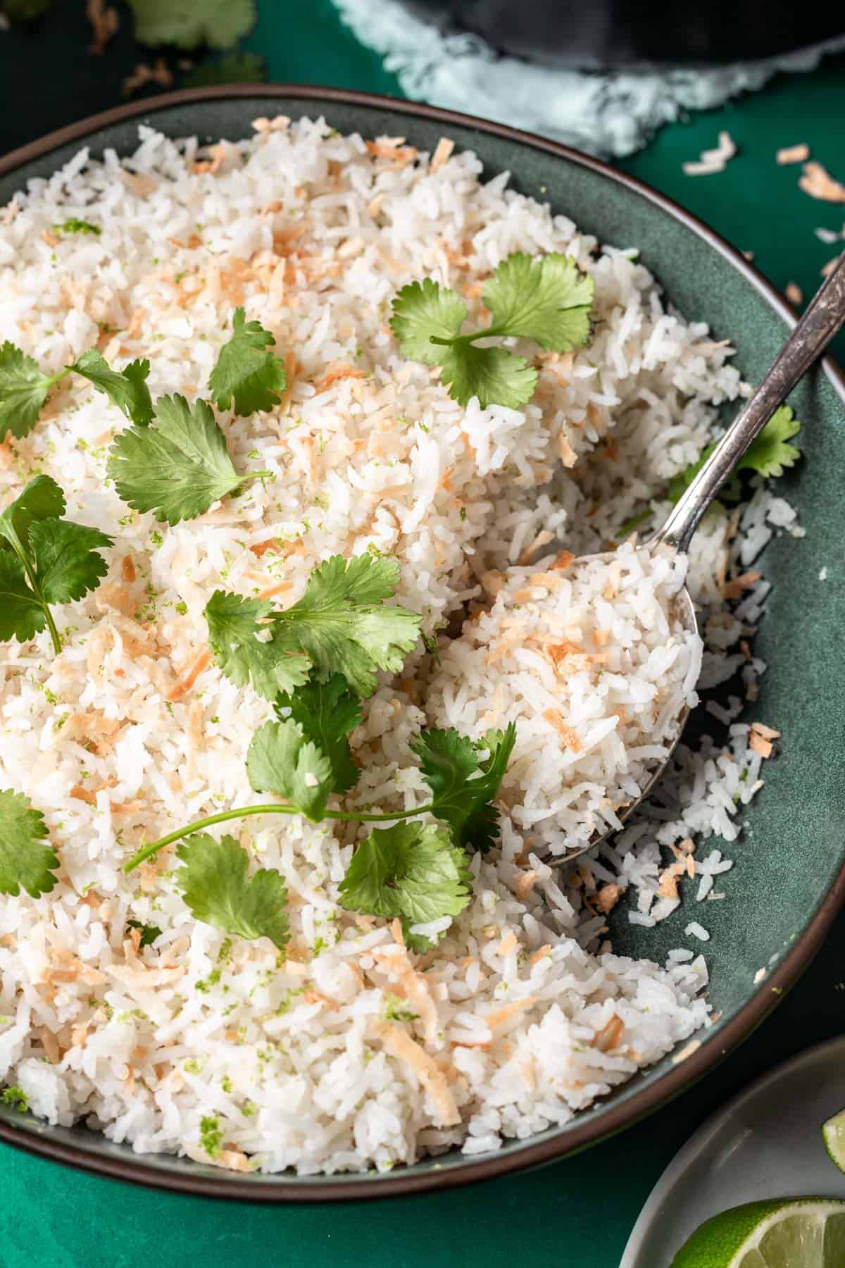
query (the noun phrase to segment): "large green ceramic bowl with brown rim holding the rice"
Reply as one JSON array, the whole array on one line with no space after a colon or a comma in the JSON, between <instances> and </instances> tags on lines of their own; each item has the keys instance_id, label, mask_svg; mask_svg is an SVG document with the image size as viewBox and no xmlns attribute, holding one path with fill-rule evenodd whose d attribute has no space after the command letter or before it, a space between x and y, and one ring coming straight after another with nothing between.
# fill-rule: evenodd
<instances>
[{"instance_id":1,"label":"large green ceramic bowl with brown rim holding the rice","mask_svg":"<svg viewBox=\"0 0 845 1268\"><path fill-rule=\"evenodd\" d=\"M527 194L549 199L600 241L637 246L674 303L730 336L737 364L758 379L794 318L777 292L716 233L679 207L595 158L466 115L331 89L237 85L172 93L127 105L56 132L0 160L0 204L33 176L48 176L80 146L128 153L139 123L170 136L237 139L256 115L324 114L342 131L403 134L424 150L447 134L478 151L488 175L512 172ZM845 380L827 363L791 397L804 422L804 462L782 482L807 535L784 538L765 553L774 582L756 640L769 663L755 716L783 730L766 787L730 846L736 867L728 899L707 908L707 959L718 1022L701 1047L677 1064L666 1058L573 1123L498 1153L454 1153L386 1175L238 1175L182 1158L134 1154L86 1129L49 1127L0 1110L0 1139L86 1170L137 1183L256 1201L329 1201L437 1189L561 1158L636 1122L701 1078L774 1007L807 966L845 898L845 728L841 630L845 628L841 506L845 489ZM826 566L830 579L818 581ZM718 841L715 842L720 844ZM684 900L655 929L613 929L618 950L660 960L678 946L696 904ZM755 984L763 966L769 973Z\"/></svg>"}]
</instances>

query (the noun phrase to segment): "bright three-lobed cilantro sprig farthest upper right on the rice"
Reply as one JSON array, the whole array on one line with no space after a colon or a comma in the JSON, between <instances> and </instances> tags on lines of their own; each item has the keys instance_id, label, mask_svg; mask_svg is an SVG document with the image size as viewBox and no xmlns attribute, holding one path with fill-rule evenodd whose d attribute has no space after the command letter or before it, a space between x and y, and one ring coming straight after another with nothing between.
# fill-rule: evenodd
<instances>
[{"instance_id":1,"label":"bright three-lobed cilantro sprig farthest upper right on the rice","mask_svg":"<svg viewBox=\"0 0 845 1268\"><path fill-rule=\"evenodd\" d=\"M481 299L492 322L462 335L467 308L454 292L426 278L403 287L393 301L390 328L402 354L426 365L440 365L454 401L481 407L526 404L537 387L537 370L524 358L492 337L530 339L541 347L568 353L590 333L593 279L571 256L551 254L540 260L513 252L486 281Z\"/></svg>"}]
</instances>

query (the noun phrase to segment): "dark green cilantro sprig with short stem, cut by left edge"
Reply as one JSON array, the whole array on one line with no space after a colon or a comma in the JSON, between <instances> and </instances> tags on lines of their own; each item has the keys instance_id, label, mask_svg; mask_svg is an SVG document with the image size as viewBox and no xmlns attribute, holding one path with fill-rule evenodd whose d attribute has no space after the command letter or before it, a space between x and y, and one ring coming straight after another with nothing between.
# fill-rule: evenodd
<instances>
[{"instance_id":1,"label":"dark green cilantro sprig with short stem, cut by left edge","mask_svg":"<svg viewBox=\"0 0 845 1268\"><path fill-rule=\"evenodd\" d=\"M99 553L111 538L65 520L65 495L37 476L0 515L0 639L25 643L44 625L58 656L62 639L51 605L95 590L108 572Z\"/></svg>"}]
</instances>

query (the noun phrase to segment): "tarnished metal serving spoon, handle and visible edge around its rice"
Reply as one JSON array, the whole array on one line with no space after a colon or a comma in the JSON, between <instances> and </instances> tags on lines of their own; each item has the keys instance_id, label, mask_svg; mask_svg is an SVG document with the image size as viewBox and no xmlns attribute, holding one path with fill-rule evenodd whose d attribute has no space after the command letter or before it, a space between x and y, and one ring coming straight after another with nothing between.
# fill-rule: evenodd
<instances>
[{"instance_id":1,"label":"tarnished metal serving spoon, handle and visible edge around its rice","mask_svg":"<svg viewBox=\"0 0 845 1268\"><path fill-rule=\"evenodd\" d=\"M671 508L666 522L654 536L642 544L642 549L647 550L663 545L678 552L678 554L687 553L693 533L698 527L704 511L732 473L745 450L754 437L763 431L772 415L783 404L796 383L806 374L816 358L827 347L827 344L842 323L845 323L845 255L840 257L836 268L816 292L792 335L769 366L754 396L736 416L702 469ZM600 557L593 555L592 558ZM608 554L607 558L609 559L611 555ZM677 615L683 628L697 633L696 607L685 586L677 595L675 604ZM617 815L622 823L630 818L663 776L671 753L680 739L680 733L684 729L688 716L689 709L684 709L678 718L678 730L668 744L666 757L660 766L655 767L640 796L617 810ZM617 827L612 827L606 832L597 832L587 844L573 847L562 855L546 856L545 861L549 864L569 864L573 858L578 858L585 851L593 850L618 831Z\"/></svg>"}]
</instances>

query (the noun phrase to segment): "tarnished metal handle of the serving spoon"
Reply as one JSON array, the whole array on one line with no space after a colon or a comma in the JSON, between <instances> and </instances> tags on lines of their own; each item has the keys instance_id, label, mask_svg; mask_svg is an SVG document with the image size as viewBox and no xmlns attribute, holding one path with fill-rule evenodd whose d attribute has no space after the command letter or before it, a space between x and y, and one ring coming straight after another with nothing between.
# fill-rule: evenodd
<instances>
[{"instance_id":1,"label":"tarnished metal handle of the serving spoon","mask_svg":"<svg viewBox=\"0 0 845 1268\"><path fill-rule=\"evenodd\" d=\"M845 255L825 279L759 388L669 514L652 544L685 552L698 522L737 462L798 379L845 322Z\"/></svg>"}]
</instances>

